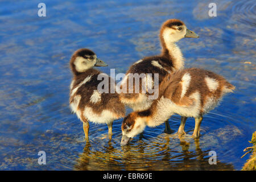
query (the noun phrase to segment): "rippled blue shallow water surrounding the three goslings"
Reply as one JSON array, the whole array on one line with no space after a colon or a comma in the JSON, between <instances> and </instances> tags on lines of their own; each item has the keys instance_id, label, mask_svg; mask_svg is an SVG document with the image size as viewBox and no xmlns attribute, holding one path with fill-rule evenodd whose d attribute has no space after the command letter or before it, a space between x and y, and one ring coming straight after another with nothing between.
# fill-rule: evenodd
<instances>
[{"instance_id":1,"label":"rippled blue shallow water surrounding the three goslings","mask_svg":"<svg viewBox=\"0 0 256 182\"><path fill-rule=\"evenodd\" d=\"M0 169L2 170L240 170L249 155L243 148L255 122L255 1L44 1L47 16L37 15L40 1L1 1L0 6ZM147 128L121 147L121 120L108 140L106 125L90 125L83 142L82 123L68 106L69 59L86 47L109 64L100 68L125 73L144 56L160 52L159 28L177 18L200 35L183 39L185 67L223 75L236 86L221 105L205 115L199 140L164 134L164 125ZM130 110L127 110L129 113ZM180 117L170 125L175 132ZM189 118L185 131L192 134ZM38 164L46 152L47 165ZM209 165L209 151L217 165Z\"/></svg>"}]
</instances>

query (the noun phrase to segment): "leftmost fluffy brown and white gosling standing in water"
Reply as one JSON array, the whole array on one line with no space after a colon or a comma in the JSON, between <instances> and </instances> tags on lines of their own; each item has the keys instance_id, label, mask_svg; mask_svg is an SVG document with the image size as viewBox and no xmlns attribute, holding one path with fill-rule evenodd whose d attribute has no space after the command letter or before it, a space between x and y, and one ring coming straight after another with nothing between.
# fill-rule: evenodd
<instances>
[{"instance_id":1,"label":"leftmost fluffy brown and white gosling standing in water","mask_svg":"<svg viewBox=\"0 0 256 182\"><path fill-rule=\"evenodd\" d=\"M89 121L106 123L109 128L109 139L112 138L112 125L115 119L125 116L125 106L119 101L117 93L100 93L97 90L101 80L97 77L105 74L93 67L106 67L104 61L97 58L89 49L79 49L70 60L73 80L70 85L69 104L73 113L82 121L85 139L88 141ZM113 84L110 82L109 86ZM112 78L111 78L112 79Z\"/></svg>"}]
</instances>

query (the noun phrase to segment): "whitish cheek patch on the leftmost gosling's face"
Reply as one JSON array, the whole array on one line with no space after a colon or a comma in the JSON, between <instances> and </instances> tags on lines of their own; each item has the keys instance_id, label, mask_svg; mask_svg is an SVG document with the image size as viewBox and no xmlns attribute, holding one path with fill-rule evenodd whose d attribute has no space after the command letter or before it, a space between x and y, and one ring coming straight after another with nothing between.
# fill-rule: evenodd
<instances>
[{"instance_id":1,"label":"whitish cheek patch on the leftmost gosling's face","mask_svg":"<svg viewBox=\"0 0 256 182\"><path fill-rule=\"evenodd\" d=\"M76 71L78 72L85 72L87 69L90 69L94 67L96 64L96 56L94 56L95 59L93 60L86 60L84 57L78 56L76 57L74 64L76 67Z\"/></svg>"}]
</instances>

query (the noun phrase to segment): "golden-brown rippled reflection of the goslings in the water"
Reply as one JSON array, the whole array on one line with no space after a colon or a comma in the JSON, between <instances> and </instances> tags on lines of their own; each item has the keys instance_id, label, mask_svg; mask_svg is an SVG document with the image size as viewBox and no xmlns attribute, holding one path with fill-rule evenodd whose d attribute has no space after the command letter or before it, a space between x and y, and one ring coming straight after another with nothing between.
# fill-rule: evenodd
<instances>
[{"instance_id":1,"label":"golden-brown rippled reflection of the goslings in the water","mask_svg":"<svg viewBox=\"0 0 256 182\"><path fill-rule=\"evenodd\" d=\"M112 142L96 150L86 142L75 170L234 170L232 164L217 160L209 164L209 151L202 151L199 139L181 138L174 144L170 135L150 144L138 140L137 146L113 147ZM117 140L118 142L118 140ZM113 143L114 146L115 142ZM190 150L189 148L195 149Z\"/></svg>"}]
</instances>

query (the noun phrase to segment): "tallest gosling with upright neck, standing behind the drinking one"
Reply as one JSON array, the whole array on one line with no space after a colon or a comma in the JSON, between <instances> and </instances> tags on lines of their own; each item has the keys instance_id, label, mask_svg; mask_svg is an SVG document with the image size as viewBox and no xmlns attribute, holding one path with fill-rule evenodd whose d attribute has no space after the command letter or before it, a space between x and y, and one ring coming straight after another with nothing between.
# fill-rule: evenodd
<instances>
[{"instance_id":1,"label":"tallest gosling with upright neck, standing behind the drinking one","mask_svg":"<svg viewBox=\"0 0 256 182\"><path fill-rule=\"evenodd\" d=\"M151 73L152 76L154 76L154 73L158 73L160 84L168 73L172 73L183 68L183 55L180 48L175 43L183 38L199 38L195 32L188 30L185 24L178 19L169 19L164 22L160 29L159 37L162 46L162 53L156 56L144 57L143 59L135 62L131 65L129 70L126 72L126 77L122 80L121 89L124 84L127 84L127 93L120 94L121 102L131 107L134 111L148 109L153 100L148 99L148 93L129 93L129 73L138 73L139 75L141 73ZM154 87L154 77L148 77L147 75L147 82L148 81L150 82L148 85L153 85ZM139 86L141 88L141 82Z\"/></svg>"}]
</instances>

